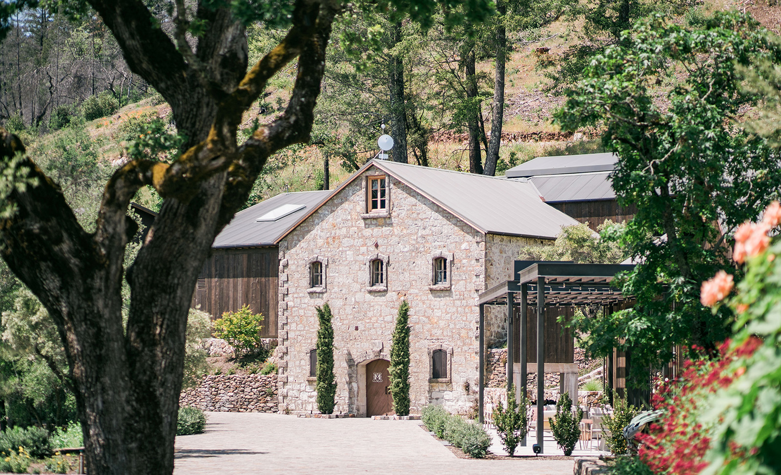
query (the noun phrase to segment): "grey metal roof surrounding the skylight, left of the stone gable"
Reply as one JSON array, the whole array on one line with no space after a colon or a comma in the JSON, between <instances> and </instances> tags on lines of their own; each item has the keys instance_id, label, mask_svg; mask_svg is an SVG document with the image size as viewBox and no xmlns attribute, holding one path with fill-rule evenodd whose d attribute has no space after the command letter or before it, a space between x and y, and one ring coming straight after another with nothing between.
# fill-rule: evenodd
<instances>
[{"instance_id":1,"label":"grey metal roof surrounding the skylight, left of the stone gable","mask_svg":"<svg viewBox=\"0 0 781 475\"><path fill-rule=\"evenodd\" d=\"M331 193L332 190L281 193L239 211L214 239L212 248L276 246L280 237L298 224L308 211L323 203ZM261 216L290 204L304 205L304 207L291 214L285 214L276 221L257 221Z\"/></svg>"}]
</instances>

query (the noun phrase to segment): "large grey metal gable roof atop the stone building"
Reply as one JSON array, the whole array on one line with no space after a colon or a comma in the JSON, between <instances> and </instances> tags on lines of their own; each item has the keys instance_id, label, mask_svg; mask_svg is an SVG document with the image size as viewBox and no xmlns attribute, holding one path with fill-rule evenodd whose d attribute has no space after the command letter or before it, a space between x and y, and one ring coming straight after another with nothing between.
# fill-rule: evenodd
<instances>
[{"instance_id":1,"label":"large grey metal gable roof atop the stone building","mask_svg":"<svg viewBox=\"0 0 781 475\"><path fill-rule=\"evenodd\" d=\"M332 196L370 167L379 168L405 183L483 233L555 239L562 232L562 226L578 224L575 219L540 200L532 183L396 161L369 161L342 183ZM316 209L308 211L299 222Z\"/></svg>"}]
</instances>

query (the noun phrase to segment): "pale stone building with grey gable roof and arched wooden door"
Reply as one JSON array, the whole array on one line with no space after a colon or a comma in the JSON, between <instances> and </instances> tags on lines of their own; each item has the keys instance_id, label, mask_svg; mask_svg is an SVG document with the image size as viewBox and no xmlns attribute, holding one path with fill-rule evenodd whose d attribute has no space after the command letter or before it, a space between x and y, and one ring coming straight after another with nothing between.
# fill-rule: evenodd
<instances>
[{"instance_id":1,"label":"pale stone building with grey gable roof and arched wooden door","mask_svg":"<svg viewBox=\"0 0 781 475\"><path fill-rule=\"evenodd\" d=\"M577 222L525 179L370 161L276 240L280 411L316 411L316 306L333 312L336 412L391 411L387 367L410 304L412 412L469 413L478 387L476 297L515 278L523 246ZM488 344L505 314L487 309Z\"/></svg>"}]
</instances>

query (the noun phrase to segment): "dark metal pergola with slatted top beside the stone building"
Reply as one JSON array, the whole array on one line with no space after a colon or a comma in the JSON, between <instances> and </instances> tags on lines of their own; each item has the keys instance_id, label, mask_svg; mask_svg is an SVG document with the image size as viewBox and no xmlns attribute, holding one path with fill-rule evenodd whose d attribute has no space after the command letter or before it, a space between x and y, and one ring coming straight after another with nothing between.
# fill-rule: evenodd
<instances>
[{"instance_id":1,"label":"dark metal pergola with slatted top beside the stone building","mask_svg":"<svg viewBox=\"0 0 781 475\"><path fill-rule=\"evenodd\" d=\"M484 312L486 305L507 307L507 385L513 380L513 311L520 306L520 381L526 388L526 307L537 307L537 445L544 452L544 372L545 372L545 306L604 306L631 303L632 296L624 296L621 289L611 285L616 274L630 271L634 264L574 264L559 261L515 261L515 281L507 281L478 296L480 306L480 424L483 424L483 389L485 373ZM516 300L519 294L519 300ZM522 441L526 445L526 438Z\"/></svg>"}]
</instances>

